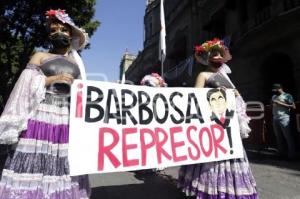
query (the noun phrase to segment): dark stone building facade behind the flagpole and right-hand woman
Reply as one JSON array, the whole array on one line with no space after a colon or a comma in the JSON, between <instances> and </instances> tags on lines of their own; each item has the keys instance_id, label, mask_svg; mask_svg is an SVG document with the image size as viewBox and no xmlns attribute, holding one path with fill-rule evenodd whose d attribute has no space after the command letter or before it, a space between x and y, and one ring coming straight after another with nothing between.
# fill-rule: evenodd
<instances>
[{"instance_id":1,"label":"dark stone building facade behind the flagpole and right-hand woman","mask_svg":"<svg viewBox=\"0 0 300 199\"><path fill-rule=\"evenodd\" d=\"M161 71L159 3L147 3L144 49L126 72L135 83L147 73ZM246 100L267 104L275 82L300 100L300 0L165 0L164 6L164 76L169 86L194 85L203 66L175 67L193 57L196 44L214 37L230 38L231 78Z\"/></svg>"}]
</instances>

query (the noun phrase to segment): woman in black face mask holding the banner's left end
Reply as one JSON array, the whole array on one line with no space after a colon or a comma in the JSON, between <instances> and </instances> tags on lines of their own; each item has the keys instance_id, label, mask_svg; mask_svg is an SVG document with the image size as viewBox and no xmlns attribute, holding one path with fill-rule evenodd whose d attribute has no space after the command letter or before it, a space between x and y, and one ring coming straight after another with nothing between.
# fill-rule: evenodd
<instances>
[{"instance_id":1,"label":"woman in black face mask holding the banner's left end","mask_svg":"<svg viewBox=\"0 0 300 199\"><path fill-rule=\"evenodd\" d=\"M0 181L0 199L87 199L87 176L69 176L69 94L85 79L77 53L88 42L64 10L46 12L51 49L37 52L0 117L0 143L15 144Z\"/></svg>"}]
</instances>

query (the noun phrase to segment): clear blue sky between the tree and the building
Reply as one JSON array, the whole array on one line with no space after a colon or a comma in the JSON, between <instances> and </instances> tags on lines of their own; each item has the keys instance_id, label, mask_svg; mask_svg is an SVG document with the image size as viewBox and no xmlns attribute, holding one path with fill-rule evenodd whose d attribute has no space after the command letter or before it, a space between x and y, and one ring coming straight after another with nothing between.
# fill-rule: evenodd
<instances>
[{"instance_id":1,"label":"clear blue sky between the tree and the building","mask_svg":"<svg viewBox=\"0 0 300 199\"><path fill-rule=\"evenodd\" d=\"M146 0L97 0L94 18L101 25L90 39L91 48L82 52L87 73L94 74L88 79L118 80L126 48L133 54L143 49L145 6Z\"/></svg>"}]
</instances>

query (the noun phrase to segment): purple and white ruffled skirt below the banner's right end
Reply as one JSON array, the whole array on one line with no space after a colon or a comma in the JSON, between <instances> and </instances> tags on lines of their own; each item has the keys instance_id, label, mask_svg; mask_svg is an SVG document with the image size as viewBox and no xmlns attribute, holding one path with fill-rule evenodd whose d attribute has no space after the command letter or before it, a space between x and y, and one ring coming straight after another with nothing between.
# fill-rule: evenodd
<instances>
[{"instance_id":1,"label":"purple and white ruffled skirt below the banner's right end","mask_svg":"<svg viewBox=\"0 0 300 199\"><path fill-rule=\"evenodd\" d=\"M244 155L243 159L181 166L178 186L197 199L257 199L256 183Z\"/></svg>"}]
</instances>

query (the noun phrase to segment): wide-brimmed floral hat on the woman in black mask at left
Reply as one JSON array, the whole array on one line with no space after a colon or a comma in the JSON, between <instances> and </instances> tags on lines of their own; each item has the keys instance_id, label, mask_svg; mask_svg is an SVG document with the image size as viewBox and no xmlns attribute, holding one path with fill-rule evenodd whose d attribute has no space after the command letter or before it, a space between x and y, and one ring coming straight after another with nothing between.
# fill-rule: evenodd
<instances>
[{"instance_id":1,"label":"wide-brimmed floral hat on the woman in black mask at left","mask_svg":"<svg viewBox=\"0 0 300 199\"><path fill-rule=\"evenodd\" d=\"M84 29L77 27L65 10L48 10L46 12L46 18L49 23L57 19L64 24L68 24L72 28L72 47L75 50L82 49L86 46L89 41L88 34Z\"/></svg>"}]
</instances>

